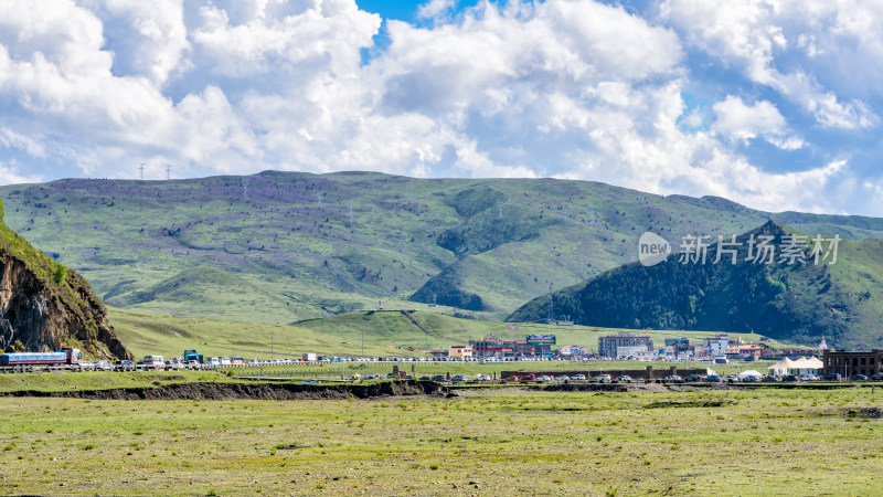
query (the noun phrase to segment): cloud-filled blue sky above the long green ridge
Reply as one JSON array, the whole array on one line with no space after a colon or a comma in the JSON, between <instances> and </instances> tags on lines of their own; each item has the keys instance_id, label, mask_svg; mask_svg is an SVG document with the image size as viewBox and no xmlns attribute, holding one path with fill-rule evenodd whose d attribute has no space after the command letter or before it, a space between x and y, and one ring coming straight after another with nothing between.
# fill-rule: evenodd
<instances>
[{"instance_id":1,"label":"cloud-filled blue sky above the long green ridge","mask_svg":"<svg viewBox=\"0 0 883 497\"><path fill-rule=\"evenodd\" d=\"M0 183L555 177L883 215L883 4L0 2Z\"/></svg>"}]
</instances>

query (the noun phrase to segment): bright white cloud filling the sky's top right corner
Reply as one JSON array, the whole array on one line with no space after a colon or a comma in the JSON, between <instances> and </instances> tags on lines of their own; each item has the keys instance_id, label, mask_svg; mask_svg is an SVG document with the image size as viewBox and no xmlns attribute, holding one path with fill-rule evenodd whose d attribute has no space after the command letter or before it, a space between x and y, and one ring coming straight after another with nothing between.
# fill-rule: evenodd
<instances>
[{"instance_id":1,"label":"bright white cloud filling the sky's top right corner","mask_svg":"<svg viewBox=\"0 0 883 497\"><path fill-rule=\"evenodd\" d=\"M872 61L883 62L883 38L880 30L873 28L883 22L883 4L871 7L872 3L849 0L726 3L668 0L660 7L660 19L678 29L690 45L738 67L752 82L767 85L800 105L821 126L860 129L872 127L879 120L864 102L838 97L833 91L826 89L815 74L804 70L783 72L777 61L791 46L806 51L809 60L818 60L820 54L838 56L841 46L858 44L860 50L857 52L869 59L864 65L857 64L852 68L859 80L872 84L862 75L863 67L874 65ZM866 18L855 15L857 10ZM876 19L876 24L869 19ZM815 33L826 33L826 40L817 40ZM819 74L825 75L823 72ZM880 75L880 70L872 68L870 74Z\"/></svg>"}]
</instances>

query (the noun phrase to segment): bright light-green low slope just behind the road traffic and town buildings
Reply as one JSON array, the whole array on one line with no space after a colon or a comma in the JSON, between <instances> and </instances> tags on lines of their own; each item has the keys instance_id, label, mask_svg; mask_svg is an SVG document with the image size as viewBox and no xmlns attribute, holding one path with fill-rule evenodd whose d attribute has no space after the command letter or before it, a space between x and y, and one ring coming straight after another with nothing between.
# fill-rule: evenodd
<instances>
[{"instance_id":1,"label":"bright light-green low slope just behind the road traffic and town buildings","mask_svg":"<svg viewBox=\"0 0 883 497\"><path fill-rule=\"evenodd\" d=\"M117 335L136 357L162 355L171 358L180 356L185 349L196 349L205 356L267 358L270 340L273 351L277 353L317 352L328 356L370 357L425 357L432 348L455 345L451 340L424 334L401 313L349 313L289 326L157 315L113 307L108 308L108 313ZM624 331L585 326L481 321L455 318L430 310L421 310L414 316L430 331L461 342L490 335L523 340L526 335L550 334L556 335L558 346L576 345L595 349L598 337ZM643 332L650 335L658 348L664 346L666 338L688 337L694 342L701 342L702 337L715 334L670 330ZM752 334L740 337L746 341L760 339L758 335ZM791 345L776 340L768 343L774 348ZM414 350L408 350L408 347Z\"/></svg>"}]
</instances>

